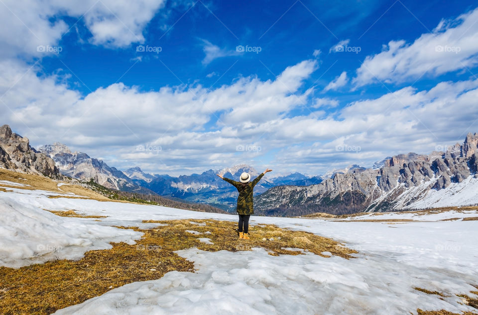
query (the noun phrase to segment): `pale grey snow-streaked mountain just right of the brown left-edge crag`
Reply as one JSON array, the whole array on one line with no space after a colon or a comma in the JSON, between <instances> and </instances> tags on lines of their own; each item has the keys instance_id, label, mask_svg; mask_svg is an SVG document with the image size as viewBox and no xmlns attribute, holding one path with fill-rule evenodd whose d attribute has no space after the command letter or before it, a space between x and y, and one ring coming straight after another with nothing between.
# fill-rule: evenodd
<instances>
[{"instance_id":1,"label":"pale grey snow-streaked mountain just right of the brown left-edge crag","mask_svg":"<svg viewBox=\"0 0 478 315\"><path fill-rule=\"evenodd\" d=\"M65 176L86 181L93 178L100 185L123 191L139 189L129 177L115 167L108 166L101 159L90 158L86 153L71 152L70 148L64 144L56 142L42 146L38 150L53 158L56 166Z\"/></svg>"}]
</instances>

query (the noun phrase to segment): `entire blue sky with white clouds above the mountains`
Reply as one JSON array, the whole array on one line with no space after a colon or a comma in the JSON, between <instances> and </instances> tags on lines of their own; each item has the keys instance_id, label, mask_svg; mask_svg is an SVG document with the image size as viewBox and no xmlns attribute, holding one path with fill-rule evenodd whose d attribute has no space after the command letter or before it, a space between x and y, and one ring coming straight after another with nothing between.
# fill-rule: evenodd
<instances>
[{"instance_id":1,"label":"entire blue sky with white clouds above the mountains","mask_svg":"<svg viewBox=\"0 0 478 315\"><path fill-rule=\"evenodd\" d=\"M476 1L0 2L0 125L34 147L315 175L478 132Z\"/></svg>"}]
</instances>

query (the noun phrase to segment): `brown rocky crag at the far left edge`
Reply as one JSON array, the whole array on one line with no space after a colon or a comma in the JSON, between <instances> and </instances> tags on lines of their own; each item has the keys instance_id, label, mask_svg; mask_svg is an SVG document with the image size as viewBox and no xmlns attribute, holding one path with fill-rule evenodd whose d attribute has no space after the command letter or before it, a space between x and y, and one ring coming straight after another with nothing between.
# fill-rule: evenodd
<instances>
[{"instance_id":1,"label":"brown rocky crag at the far left edge","mask_svg":"<svg viewBox=\"0 0 478 315\"><path fill-rule=\"evenodd\" d=\"M28 139L13 133L8 125L0 127L0 167L51 178L61 177L53 159L31 148Z\"/></svg>"}]
</instances>

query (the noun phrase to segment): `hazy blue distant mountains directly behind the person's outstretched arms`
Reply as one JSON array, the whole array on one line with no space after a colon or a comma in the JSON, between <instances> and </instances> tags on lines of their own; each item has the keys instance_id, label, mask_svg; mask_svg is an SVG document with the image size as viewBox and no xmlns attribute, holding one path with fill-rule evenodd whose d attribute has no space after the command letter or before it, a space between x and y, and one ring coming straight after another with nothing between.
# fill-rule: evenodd
<instances>
[{"instance_id":1,"label":"hazy blue distant mountains directly behind the person's outstretched arms","mask_svg":"<svg viewBox=\"0 0 478 315\"><path fill-rule=\"evenodd\" d=\"M242 172L250 173L252 178L260 174L259 171L246 164L220 170L209 169L201 174L180 175L178 177L147 174L139 167L124 171L135 184L146 187L159 195L180 198L190 202L207 203L228 211L234 210L238 192L234 186L222 180L216 174L238 180ZM275 178L265 176L256 185L254 194L263 193L267 189L278 185L307 185L307 183L318 183L321 180L318 176L307 177L300 173Z\"/></svg>"}]
</instances>

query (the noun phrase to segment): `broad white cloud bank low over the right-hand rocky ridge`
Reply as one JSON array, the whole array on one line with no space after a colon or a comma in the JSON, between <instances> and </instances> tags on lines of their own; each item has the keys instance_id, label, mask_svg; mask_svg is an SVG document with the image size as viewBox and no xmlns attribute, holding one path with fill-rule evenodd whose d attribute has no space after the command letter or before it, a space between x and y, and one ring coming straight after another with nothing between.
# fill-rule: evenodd
<instances>
[{"instance_id":1,"label":"broad white cloud bank low over the right-hand rocky ridge","mask_svg":"<svg viewBox=\"0 0 478 315\"><path fill-rule=\"evenodd\" d=\"M283 134L300 133L302 141L315 136L315 142L285 147L273 164L276 168L300 165L298 169L314 169L309 173L318 174L354 163L370 166L400 153L428 154L437 145L461 143L468 132L478 132L477 97L478 79L441 82L430 90L405 87L353 102L337 118L284 120ZM338 151L336 146L359 150Z\"/></svg>"}]
</instances>

